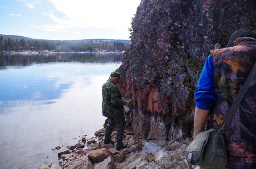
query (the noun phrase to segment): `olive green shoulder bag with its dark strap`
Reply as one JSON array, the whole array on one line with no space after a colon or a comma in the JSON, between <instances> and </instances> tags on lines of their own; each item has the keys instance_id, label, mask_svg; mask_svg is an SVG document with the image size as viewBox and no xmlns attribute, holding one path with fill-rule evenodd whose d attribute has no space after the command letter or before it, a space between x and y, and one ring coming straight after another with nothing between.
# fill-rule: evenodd
<instances>
[{"instance_id":1,"label":"olive green shoulder bag with its dark strap","mask_svg":"<svg viewBox=\"0 0 256 169\"><path fill-rule=\"evenodd\" d=\"M256 64L247 77L245 83L240 88L235 101L227 112L223 121L222 128L209 129L197 134L193 142L191 142L186 150L185 157L188 160L189 168L192 165L200 165L203 168L224 168L227 164L226 144L223 133L223 127L228 124L233 117L243 96L247 93L247 89L252 82L256 73Z\"/></svg>"}]
</instances>

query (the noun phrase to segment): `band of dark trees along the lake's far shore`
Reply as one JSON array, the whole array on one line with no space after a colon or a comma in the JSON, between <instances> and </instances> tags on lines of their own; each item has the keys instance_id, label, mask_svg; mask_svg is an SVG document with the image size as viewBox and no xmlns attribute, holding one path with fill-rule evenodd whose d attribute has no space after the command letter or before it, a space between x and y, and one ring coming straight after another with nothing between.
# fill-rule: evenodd
<instances>
[{"instance_id":1,"label":"band of dark trees along the lake's far shore","mask_svg":"<svg viewBox=\"0 0 256 169\"><path fill-rule=\"evenodd\" d=\"M122 42L108 43L88 43L88 42L64 42L64 41L47 41L47 40L17 40L4 39L0 37L0 51L43 51L55 50L55 52L82 52L94 51L125 51L127 44Z\"/></svg>"}]
</instances>

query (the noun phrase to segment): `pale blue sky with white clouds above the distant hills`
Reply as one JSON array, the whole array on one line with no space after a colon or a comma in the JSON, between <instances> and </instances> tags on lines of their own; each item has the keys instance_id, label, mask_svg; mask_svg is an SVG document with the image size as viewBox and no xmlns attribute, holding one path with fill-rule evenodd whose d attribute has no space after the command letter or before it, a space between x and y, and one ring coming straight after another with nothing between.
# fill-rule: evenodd
<instances>
[{"instance_id":1,"label":"pale blue sky with white clouds above the distant hills","mask_svg":"<svg viewBox=\"0 0 256 169\"><path fill-rule=\"evenodd\" d=\"M0 34L34 39L129 39L140 0L1 0Z\"/></svg>"}]
</instances>

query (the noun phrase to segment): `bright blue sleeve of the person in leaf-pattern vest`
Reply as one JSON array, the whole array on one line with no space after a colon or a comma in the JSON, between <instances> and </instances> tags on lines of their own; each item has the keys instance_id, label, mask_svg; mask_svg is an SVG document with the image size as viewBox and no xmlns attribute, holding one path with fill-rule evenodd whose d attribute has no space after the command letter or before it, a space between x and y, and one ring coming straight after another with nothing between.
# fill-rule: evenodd
<instances>
[{"instance_id":1,"label":"bright blue sleeve of the person in leaf-pattern vest","mask_svg":"<svg viewBox=\"0 0 256 169\"><path fill-rule=\"evenodd\" d=\"M215 92L213 79L213 61L210 54L206 58L202 73L195 90L196 107L204 110L210 110L212 105L216 103L217 93Z\"/></svg>"}]
</instances>

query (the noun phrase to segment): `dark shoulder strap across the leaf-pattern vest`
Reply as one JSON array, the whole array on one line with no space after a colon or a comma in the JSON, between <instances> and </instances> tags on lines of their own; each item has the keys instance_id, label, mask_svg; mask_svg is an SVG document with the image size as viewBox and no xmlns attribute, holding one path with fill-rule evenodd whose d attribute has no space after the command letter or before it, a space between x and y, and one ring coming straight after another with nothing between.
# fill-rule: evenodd
<instances>
[{"instance_id":1,"label":"dark shoulder strap across the leaf-pattern vest","mask_svg":"<svg viewBox=\"0 0 256 169\"><path fill-rule=\"evenodd\" d=\"M240 88L240 91L237 94L237 97L234 101L234 103L232 104L232 106L230 107L226 117L224 118L224 123L228 124L231 120L231 118L233 117L238 105L240 104L241 100L243 99L243 96L245 96L245 93L247 93L247 89L250 86L254 76L256 73L256 62L253 65L253 68L249 74L249 76L247 77L245 83L243 84L243 86Z\"/></svg>"}]
</instances>

